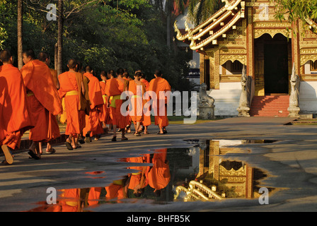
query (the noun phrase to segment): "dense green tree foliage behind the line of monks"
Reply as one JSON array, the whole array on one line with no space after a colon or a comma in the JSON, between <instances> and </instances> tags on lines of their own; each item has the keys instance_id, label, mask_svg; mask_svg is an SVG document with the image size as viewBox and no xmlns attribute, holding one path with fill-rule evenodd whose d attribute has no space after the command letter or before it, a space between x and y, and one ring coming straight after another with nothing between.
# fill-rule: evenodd
<instances>
[{"instance_id":1,"label":"dense green tree foliage behind the line of monks","mask_svg":"<svg viewBox=\"0 0 317 226\"><path fill-rule=\"evenodd\" d=\"M0 0L0 48L17 55L16 1ZM54 68L57 21L46 20L50 0L24 1L23 49L37 54L45 50ZM189 58L166 46L166 20L149 0L76 0L64 2L63 69L69 58L100 71L128 69L130 75L142 69L150 81L156 69L162 69L175 90L191 88L184 74Z\"/></svg>"}]
</instances>

